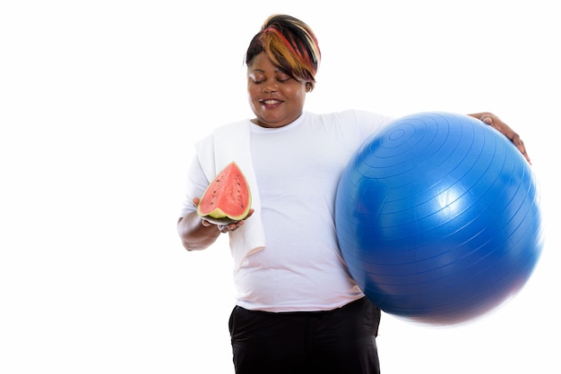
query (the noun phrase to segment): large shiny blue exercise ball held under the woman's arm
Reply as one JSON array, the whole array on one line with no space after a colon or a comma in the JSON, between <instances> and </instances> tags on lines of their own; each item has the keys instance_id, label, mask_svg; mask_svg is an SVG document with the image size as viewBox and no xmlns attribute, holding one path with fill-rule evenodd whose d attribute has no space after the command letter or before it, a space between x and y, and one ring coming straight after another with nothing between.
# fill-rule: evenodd
<instances>
[{"instance_id":1,"label":"large shiny blue exercise ball held under the woman's arm","mask_svg":"<svg viewBox=\"0 0 561 374\"><path fill-rule=\"evenodd\" d=\"M335 206L350 275L380 309L436 325L514 296L543 243L539 189L514 144L468 115L420 113L372 135Z\"/></svg>"}]
</instances>

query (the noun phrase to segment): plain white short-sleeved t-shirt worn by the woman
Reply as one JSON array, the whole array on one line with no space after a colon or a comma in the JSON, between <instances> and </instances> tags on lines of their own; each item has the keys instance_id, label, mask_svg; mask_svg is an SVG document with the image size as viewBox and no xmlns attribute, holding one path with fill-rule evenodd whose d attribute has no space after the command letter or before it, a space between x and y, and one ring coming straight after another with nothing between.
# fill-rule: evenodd
<instances>
[{"instance_id":1,"label":"plain white short-sleeved t-shirt worn by the woman","mask_svg":"<svg viewBox=\"0 0 561 374\"><path fill-rule=\"evenodd\" d=\"M350 157L391 120L349 110L305 112L278 129L252 123L251 156L266 248L234 271L238 305L277 312L332 310L364 296L341 257L335 195ZM193 198L209 184L196 160L188 181L182 217L194 210Z\"/></svg>"}]
</instances>

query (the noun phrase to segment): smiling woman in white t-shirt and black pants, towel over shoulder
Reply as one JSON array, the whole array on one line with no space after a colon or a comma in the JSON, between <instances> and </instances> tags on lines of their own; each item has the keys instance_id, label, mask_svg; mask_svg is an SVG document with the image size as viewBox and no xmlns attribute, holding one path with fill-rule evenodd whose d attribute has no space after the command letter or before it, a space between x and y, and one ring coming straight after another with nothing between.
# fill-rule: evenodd
<instances>
[{"instance_id":1,"label":"smiling woman in white t-shirt and black pants, towel over shoulder","mask_svg":"<svg viewBox=\"0 0 561 374\"><path fill-rule=\"evenodd\" d=\"M229 328L237 373L379 372L380 310L341 259L333 210L350 157L392 119L357 110L304 111L320 57L306 23L288 15L266 20L246 52L255 118L223 126L197 143L188 170L177 225L184 246L203 250L220 233L230 234L237 305ZM472 116L503 132L526 156L520 137L496 115ZM232 142L236 147L229 148ZM232 158L245 159L242 170L251 175L258 204L245 220L217 229L195 207Z\"/></svg>"}]
</instances>

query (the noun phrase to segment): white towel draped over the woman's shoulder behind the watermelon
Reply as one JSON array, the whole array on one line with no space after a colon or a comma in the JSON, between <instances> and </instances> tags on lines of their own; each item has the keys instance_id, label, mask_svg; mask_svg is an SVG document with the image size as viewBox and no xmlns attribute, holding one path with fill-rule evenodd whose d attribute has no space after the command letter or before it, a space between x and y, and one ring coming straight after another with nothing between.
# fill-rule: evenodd
<instances>
[{"instance_id":1,"label":"white towel draped over the woman's shoulder behind the watermelon","mask_svg":"<svg viewBox=\"0 0 561 374\"><path fill-rule=\"evenodd\" d=\"M265 248L265 234L261 220L261 201L257 190L257 181L251 159L250 149L250 123L241 121L229 123L214 130L214 157L199 157L204 174L212 181L216 174L235 161L237 166L246 175L251 191L252 207L254 214L247 218L244 225L236 231L229 233L230 249L236 270L242 265L246 256L262 251ZM197 149L199 154L204 154L205 149ZM208 149L206 149L208 152ZM205 155L206 156L206 155ZM210 156L210 155L209 155ZM213 162L212 162L213 161Z\"/></svg>"}]
</instances>

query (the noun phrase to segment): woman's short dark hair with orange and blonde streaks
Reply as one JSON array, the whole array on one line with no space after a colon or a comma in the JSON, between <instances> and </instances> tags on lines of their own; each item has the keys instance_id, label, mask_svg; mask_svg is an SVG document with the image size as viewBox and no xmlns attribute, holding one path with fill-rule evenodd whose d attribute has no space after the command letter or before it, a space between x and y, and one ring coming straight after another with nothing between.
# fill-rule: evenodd
<instances>
[{"instance_id":1,"label":"woman's short dark hair with orange and blonde streaks","mask_svg":"<svg viewBox=\"0 0 561 374\"><path fill-rule=\"evenodd\" d=\"M279 67L298 81L315 83L321 52L312 29L298 18L274 14L249 43L246 65L264 52Z\"/></svg>"}]
</instances>

